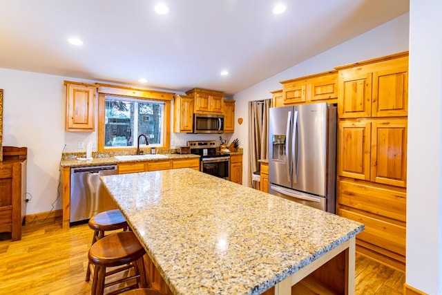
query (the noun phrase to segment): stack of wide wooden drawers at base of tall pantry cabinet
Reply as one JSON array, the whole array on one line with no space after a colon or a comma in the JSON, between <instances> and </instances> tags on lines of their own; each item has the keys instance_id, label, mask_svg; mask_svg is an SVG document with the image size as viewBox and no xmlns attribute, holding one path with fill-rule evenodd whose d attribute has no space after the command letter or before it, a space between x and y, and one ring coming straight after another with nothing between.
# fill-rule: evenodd
<instances>
[{"instance_id":1,"label":"stack of wide wooden drawers at base of tall pantry cabinet","mask_svg":"<svg viewBox=\"0 0 442 295\"><path fill-rule=\"evenodd\" d=\"M337 213L365 224L356 251L405 272L406 191L351 178L338 179Z\"/></svg>"}]
</instances>

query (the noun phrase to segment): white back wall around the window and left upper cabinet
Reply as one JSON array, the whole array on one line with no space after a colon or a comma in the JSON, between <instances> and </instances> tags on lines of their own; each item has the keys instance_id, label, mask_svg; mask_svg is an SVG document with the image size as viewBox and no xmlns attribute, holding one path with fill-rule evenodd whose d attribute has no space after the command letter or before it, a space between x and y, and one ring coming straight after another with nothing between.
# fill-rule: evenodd
<instances>
[{"instance_id":1,"label":"white back wall around the window and left upper cabinet","mask_svg":"<svg viewBox=\"0 0 442 295\"><path fill-rule=\"evenodd\" d=\"M28 202L27 214L62 208L62 198L57 193L61 153L86 153L86 143L97 142L97 132L65 131L64 80L99 82L0 68L0 88L3 89L3 145L28 147L27 191L28 198L32 199ZM219 142L219 137L220 135L171 132L173 147L184 146L188 140ZM232 134L223 134L222 137L231 142ZM84 143L83 149L77 147L78 142Z\"/></svg>"}]
</instances>

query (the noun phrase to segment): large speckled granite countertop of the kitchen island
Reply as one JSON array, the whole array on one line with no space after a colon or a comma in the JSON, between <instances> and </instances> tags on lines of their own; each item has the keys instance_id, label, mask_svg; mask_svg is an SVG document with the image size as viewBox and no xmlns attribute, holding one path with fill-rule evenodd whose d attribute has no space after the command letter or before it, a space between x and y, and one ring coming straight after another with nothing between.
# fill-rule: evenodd
<instances>
[{"instance_id":1,"label":"large speckled granite countertop of the kitchen island","mask_svg":"<svg viewBox=\"0 0 442 295\"><path fill-rule=\"evenodd\" d=\"M174 294L260 294L364 229L192 169L101 179Z\"/></svg>"}]
</instances>

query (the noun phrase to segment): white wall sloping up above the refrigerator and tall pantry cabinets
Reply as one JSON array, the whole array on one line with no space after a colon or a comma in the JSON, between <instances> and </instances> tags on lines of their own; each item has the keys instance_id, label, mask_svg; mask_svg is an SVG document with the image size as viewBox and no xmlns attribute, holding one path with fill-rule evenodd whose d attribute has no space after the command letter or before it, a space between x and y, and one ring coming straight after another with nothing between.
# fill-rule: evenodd
<instances>
[{"instance_id":1,"label":"white wall sloping up above the refrigerator and tall pantry cabinets","mask_svg":"<svg viewBox=\"0 0 442 295\"><path fill-rule=\"evenodd\" d=\"M233 95L233 99L236 100L235 117L244 118L244 123L241 126L235 126L233 136L240 138L241 147L244 148L242 183L249 184L249 146L247 144L249 101L271 98L270 91L282 89L280 81L325 72L332 70L335 66L351 64L356 61L407 51L408 26L409 15L402 15Z\"/></svg>"}]
</instances>

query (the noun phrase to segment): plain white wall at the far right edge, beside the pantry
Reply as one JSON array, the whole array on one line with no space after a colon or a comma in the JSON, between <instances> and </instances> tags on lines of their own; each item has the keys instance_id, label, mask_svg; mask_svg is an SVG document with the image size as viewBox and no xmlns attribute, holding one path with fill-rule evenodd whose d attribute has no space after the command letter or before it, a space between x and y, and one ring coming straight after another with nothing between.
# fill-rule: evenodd
<instances>
[{"instance_id":1,"label":"plain white wall at the far right edge, beside the pantry","mask_svg":"<svg viewBox=\"0 0 442 295\"><path fill-rule=\"evenodd\" d=\"M442 294L442 2L410 1L406 283Z\"/></svg>"}]
</instances>

